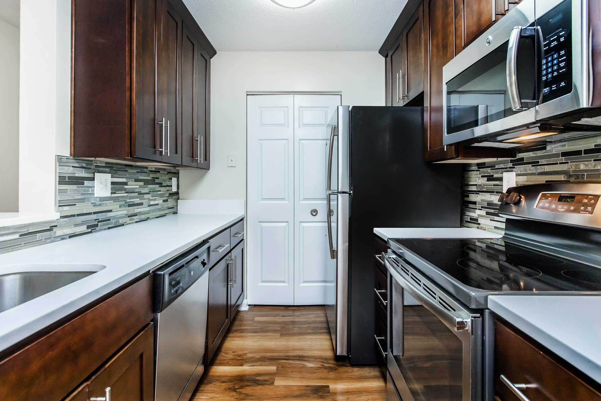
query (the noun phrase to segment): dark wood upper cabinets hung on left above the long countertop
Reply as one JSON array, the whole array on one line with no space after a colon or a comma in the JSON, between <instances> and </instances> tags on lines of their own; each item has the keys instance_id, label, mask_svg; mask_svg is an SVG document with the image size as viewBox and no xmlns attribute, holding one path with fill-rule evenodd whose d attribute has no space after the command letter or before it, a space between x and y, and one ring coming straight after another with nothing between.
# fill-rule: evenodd
<instances>
[{"instance_id":1,"label":"dark wood upper cabinets hung on left above the long countertop","mask_svg":"<svg viewBox=\"0 0 601 401\"><path fill-rule=\"evenodd\" d=\"M73 0L72 50L72 156L209 168L216 51L182 0Z\"/></svg>"}]
</instances>

